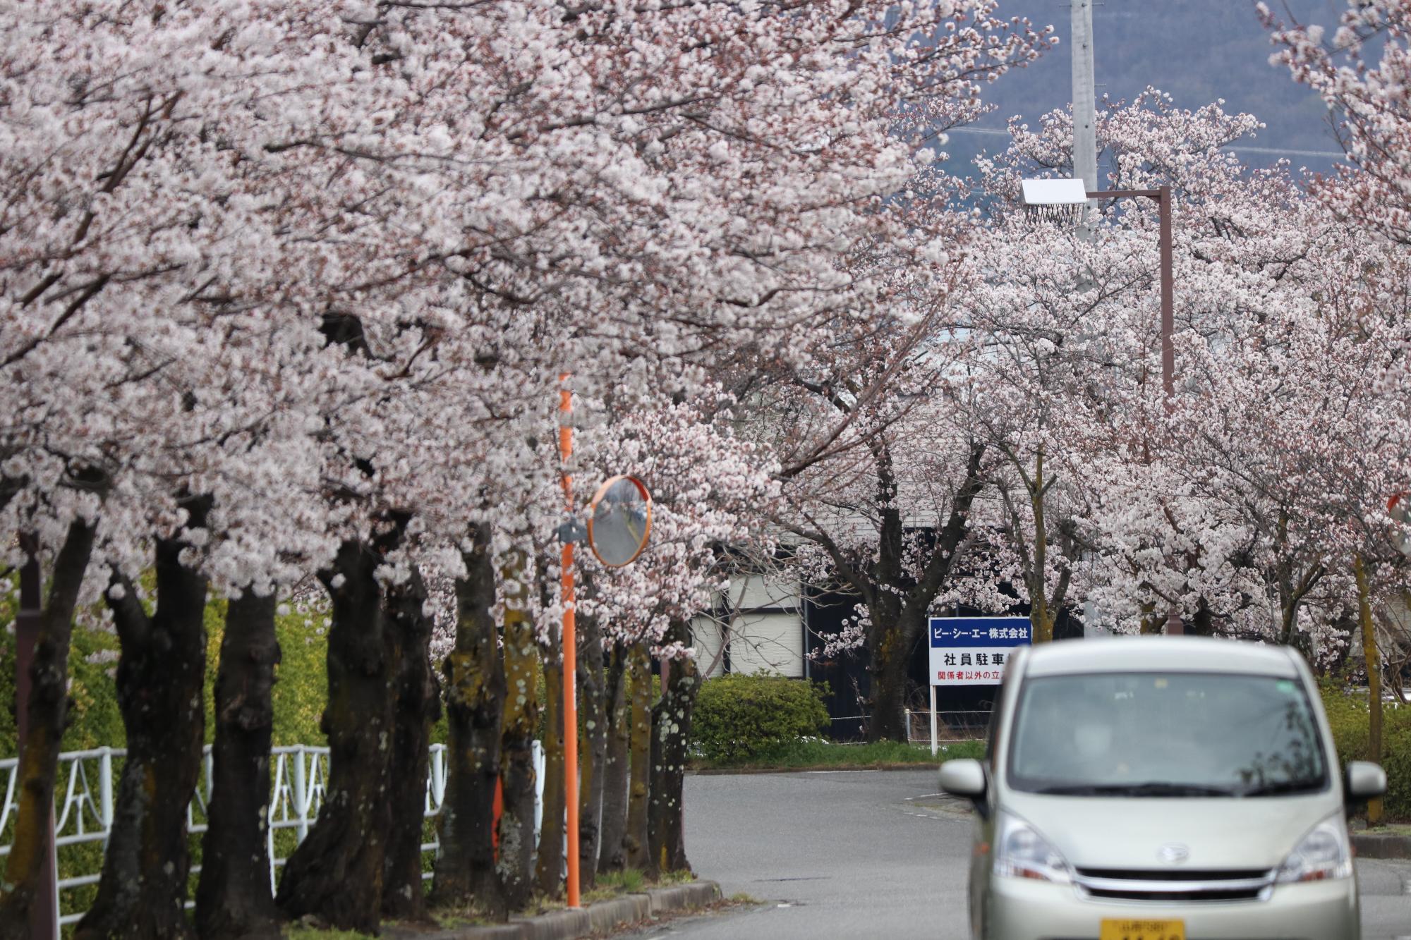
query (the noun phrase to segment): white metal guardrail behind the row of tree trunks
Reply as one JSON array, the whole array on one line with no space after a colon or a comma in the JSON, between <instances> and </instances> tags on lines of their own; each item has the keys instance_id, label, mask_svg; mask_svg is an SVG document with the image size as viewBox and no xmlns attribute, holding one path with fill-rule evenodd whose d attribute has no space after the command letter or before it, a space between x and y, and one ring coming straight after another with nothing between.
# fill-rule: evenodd
<instances>
[{"instance_id":1,"label":"white metal guardrail behind the row of tree trunks","mask_svg":"<svg viewBox=\"0 0 1411 940\"><path fill-rule=\"evenodd\" d=\"M54 844L62 851L66 845L80 845L85 843L107 844L109 831L113 827L113 788L117 773L121 772L121 761L126 757L121 748L95 748L92 751L68 751L59 755L59 772L54 788ZM281 843L288 845L288 840L277 840L282 830L292 830L295 843L302 843L309 834L309 827L319 817L319 807L323 806L323 795L329 779L329 749L326 747L292 745L271 748L270 762L272 765L272 788L270 790L270 826L265 830L265 847L270 852L270 888L277 885L278 869L285 864L286 857L279 854ZM535 761L535 833L543 816L543 749L539 742L533 742ZM11 814L17 810L16 779L18 778L18 758L0 759L0 772L6 773L4 807L0 809L0 838L7 843L0 845L0 857L10 854L10 823ZM116 764L116 766L114 766ZM206 831L206 807L210 805L212 785L210 747L205 749L202 758L200 781L196 785L196 795L186 807L186 828L192 836ZM446 799L446 745L433 744L430 747L430 765L426 773L426 814L425 819L435 819L440 813L442 802ZM440 840L432 827L432 840L422 843L423 852L440 850ZM73 872L56 879L58 891L96 885L100 875L100 864L93 865L93 871ZM61 868L63 858L61 855ZM192 865L192 874L200 871L200 865ZM422 875L430 878L430 872ZM188 900L190 908L195 902ZM62 910L62 898L59 908ZM59 924L71 924L83 916L83 910L71 910L59 917Z\"/></svg>"}]
</instances>

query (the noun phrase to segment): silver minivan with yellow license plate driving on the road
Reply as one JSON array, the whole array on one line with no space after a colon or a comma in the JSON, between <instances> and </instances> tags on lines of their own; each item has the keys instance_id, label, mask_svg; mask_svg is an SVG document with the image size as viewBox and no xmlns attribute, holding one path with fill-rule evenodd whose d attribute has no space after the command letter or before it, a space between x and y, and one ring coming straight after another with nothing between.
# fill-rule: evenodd
<instances>
[{"instance_id":1,"label":"silver minivan with yellow license plate driving on the road","mask_svg":"<svg viewBox=\"0 0 1411 940\"><path fill-rule=\"evenodd\" d=\"M1355 940L1349 803L1312 673L1283 646L1194 637L1047 644L1010 659L974 800L983 940Z\"/></svg>"}]
</instances>

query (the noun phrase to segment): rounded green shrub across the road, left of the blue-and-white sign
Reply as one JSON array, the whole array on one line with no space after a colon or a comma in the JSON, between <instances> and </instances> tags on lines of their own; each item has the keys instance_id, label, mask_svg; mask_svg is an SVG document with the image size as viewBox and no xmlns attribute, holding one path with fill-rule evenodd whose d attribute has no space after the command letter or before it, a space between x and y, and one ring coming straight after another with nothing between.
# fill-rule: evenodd
<instances>
[{"instance_id":1,"label":"rounded green shrub across the road, left of the blue-and-white sign","mask_svg":"<svg viewBox=\"0 0 1411 940\"><path fill-rule=\"evenodd\" d=\"M818 734L828 727L823 694L811 682L776 675L708 679L696 697L693 744L707 761L731 764Z\"/></svg>"}]
</instances>

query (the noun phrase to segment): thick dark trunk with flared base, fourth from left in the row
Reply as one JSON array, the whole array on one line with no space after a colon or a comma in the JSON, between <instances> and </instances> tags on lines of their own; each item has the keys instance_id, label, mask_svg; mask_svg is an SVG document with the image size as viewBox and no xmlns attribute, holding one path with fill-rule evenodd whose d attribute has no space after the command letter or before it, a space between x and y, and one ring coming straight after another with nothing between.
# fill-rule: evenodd
<instances>
[{"instance_id":1,"label":"thick dark trunk with flared base, fourth from left in the row","mask_svg":"<svg viewBox=\"0 0 1411 940\"><path fill-rule=\"evenodd\" d=\"M329 628L329 781L319 819L284 868L275 900L289 919L313 915L340 930L377 930L391 757L392 675L377 566L382 552L344 542L319 580L333 600Z\"/></svg>"}]
</instances>

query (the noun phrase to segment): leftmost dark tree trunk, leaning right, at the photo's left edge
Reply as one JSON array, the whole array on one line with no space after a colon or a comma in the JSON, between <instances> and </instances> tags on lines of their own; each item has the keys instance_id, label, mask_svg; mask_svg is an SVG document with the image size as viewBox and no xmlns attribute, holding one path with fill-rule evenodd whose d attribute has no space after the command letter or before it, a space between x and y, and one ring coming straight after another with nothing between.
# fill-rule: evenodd
<instances>
[{"instance_id":1,"label":"leftmost dark tree trunk, leaning right, at the photo's left edge","mask_svg":"<svg viewBox=\"0 0 1411 940\"><path fill-rule=\"evenodd\" d=\"M49 598L40 617L40 632L30 663L28 725L20 766L16 768L18 812L10 855L0 878L0 937L25 940L30 936L30 908L40 891L42 854L49 834L54 781L58 775L63 718L68 713L69 637L79 587L93 553L95 526L83 521L69 525L54 560Z\"/></svg>"}]
</instances>

